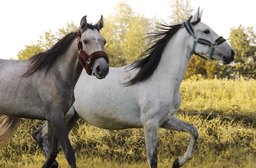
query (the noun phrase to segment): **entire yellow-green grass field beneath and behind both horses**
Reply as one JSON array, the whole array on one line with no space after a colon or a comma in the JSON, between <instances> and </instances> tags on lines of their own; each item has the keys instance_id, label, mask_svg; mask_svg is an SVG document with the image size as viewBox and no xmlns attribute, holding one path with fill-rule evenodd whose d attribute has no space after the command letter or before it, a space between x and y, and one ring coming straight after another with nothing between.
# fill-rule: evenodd
<instances>
[{"instance_id":1,"label":"entire yellow-green grass field beneath and behind both horses","mask_svg":"<svg viewBox=\"0 0 256 168\"><path fill-rule=\"evenodd\" d=\"M180 112L202 113L177 114L199 132L194 158L185 168L256 168L255 83L254 79L243 78L184 80ZM247 115L239 115L243 113ZM43 165L45 158L31 136L41 124L41 121L22 120L14 138L0 149L0 168ZM142 129L103 130L80 120L69 137L80 168L148 167ZM189 134L160 129L158 166L171 167L174 159L184 155L188 144ZM61 150L57 160L60 168L69 167Z\"/></svg>"}]
</instances>

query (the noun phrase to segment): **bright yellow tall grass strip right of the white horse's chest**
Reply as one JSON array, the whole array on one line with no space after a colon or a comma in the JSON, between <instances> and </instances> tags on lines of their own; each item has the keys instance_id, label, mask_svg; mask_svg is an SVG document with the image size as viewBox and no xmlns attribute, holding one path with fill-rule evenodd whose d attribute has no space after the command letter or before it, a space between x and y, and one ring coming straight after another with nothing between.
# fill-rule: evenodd
<instances>
[{"instance_id":1,"label":"bright yellow tall grass strip right of the white horse's chest","mask_svg":"<svg viewBox=\"0 0 256 168\"><path fill-rule=\"evenodd\" d=\"M192 76L182 82L180 89L180 111L256 114L255 79Z\"/></svg>"}]
</instances>

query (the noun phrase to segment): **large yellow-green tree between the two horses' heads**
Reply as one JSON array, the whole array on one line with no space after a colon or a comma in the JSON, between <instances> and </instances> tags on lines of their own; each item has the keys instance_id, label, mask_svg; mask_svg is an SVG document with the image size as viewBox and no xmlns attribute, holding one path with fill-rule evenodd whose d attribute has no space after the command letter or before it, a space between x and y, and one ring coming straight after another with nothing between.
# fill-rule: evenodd
<instances>
[{"instance_id":1,"label":"large yellow-green tree between the two horses' heads","mask_svg":"<svg viewBox=\"0 0 256 168\"><path fill-rule=\"evenodd\" d=\"M111 67L126 65L139 57L148 40L142 40L142 34L153 29L155 18L149 19L134 13L126 2L116 5L115 14L104 19L101 34L106 38L105 50Z\"/></svg>"}]
</instances>

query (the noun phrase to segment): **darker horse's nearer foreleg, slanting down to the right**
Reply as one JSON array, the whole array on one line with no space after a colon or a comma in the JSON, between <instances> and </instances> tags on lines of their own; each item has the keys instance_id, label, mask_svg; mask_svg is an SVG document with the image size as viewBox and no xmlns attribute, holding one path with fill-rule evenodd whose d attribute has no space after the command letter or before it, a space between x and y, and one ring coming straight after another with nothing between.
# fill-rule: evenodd
<instances>
[{"instance_id":1,"label":"darker horse's nearer foreleg, slanting down to the right","mask_svg":"<svg viewBox=\"0 0 256 168\"><path fill-rule=\"evenodd\" d=\"M58 137L59 143L61 144L70 167L76 168L76 157L69 141L64 117L61 116L61 113L56 112L54 116L49 117L48 122L52 125L54 133Z\"/></svg>"}]
</instances>

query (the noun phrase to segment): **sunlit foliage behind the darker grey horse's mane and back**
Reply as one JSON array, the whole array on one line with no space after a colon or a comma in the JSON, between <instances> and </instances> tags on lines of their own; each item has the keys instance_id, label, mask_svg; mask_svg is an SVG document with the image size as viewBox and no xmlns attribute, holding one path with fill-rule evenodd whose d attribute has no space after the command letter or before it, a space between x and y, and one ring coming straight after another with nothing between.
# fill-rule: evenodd
<instances>
[{"instance_id":1,"label":"sunlit foliage behind the darker grey horse's mane and back","mask_svg":"<svg viewBox=\"0 0 256 168\"><path fill-rule=\"evenodd\" d=\"M52 31L50 29L48 31L45 31L45 35L39 36L39 40L37 40L37 43L33 43L31 45L25 45L25 49L22 49L18 53L18 59L19 60L26 60L33 55L46 51L50 48L50 46L54 45L54 43L58 42L58 38L62 38L66 34L76 31L78 27L74 25L73 22L67 23L66 27L62 27L58 29L58 32L55 34L52 34ZM58 38L56 38L58 37Z\"/></svg>"}]
</instances>

